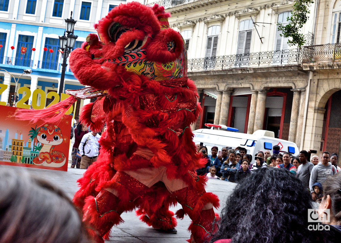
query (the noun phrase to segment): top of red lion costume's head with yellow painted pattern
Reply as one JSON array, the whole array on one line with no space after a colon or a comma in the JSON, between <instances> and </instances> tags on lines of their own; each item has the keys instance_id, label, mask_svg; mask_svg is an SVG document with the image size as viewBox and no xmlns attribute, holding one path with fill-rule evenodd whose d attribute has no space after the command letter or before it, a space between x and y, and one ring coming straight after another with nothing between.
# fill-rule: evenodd
<instances>
[{"instance_id":1,"label":"top of red lion costume's head with yellow painted pattern","mask_svg":"<svg viewBox=\"0 0 341 243\"><path fill-rule=\"evenodd\" d=\"M187 54L181 35L171 29L164 7L138 2L120 4L95 28L102 46L102 63L124 66L152 80L187 76Z\"/></svg>"}]
</instances>

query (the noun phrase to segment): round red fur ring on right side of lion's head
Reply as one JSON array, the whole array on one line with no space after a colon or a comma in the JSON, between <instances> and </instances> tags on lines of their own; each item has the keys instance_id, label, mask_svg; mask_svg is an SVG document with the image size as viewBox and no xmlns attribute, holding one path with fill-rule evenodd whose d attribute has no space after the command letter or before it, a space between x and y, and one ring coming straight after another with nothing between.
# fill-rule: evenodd
<instances>
[{"instance_id":1,"label":"round red fur ring on right side of lion's head","mask_svg":"<svg viewBox=\"0 0 341 243\"><path fill-rule=\"evenodd\" d=\"M174 49L168 51L167 43L174 42ZM183 51L184 42L181 35L173 29L160 31L147 46L147 58L159 63L173 62Z\"/></svg>"}]
</instances>

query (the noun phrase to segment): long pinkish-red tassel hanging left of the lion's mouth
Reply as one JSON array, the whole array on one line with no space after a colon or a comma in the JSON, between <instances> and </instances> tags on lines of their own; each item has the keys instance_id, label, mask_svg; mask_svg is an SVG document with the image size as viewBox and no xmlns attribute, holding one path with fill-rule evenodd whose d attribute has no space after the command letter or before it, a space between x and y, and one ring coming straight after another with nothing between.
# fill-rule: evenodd
<instances>
[{"instance_id":1,"label":"long pinkish-red tassel hanging left of the lion's mouth","mask_svg":"<svg viewBox=\"0 0 341 243\"><path fill-rule=\"evenodd\" d=\"M59 122L65 112L68 111L76 101L77 98L70 96L66 100L41 110L17 109L14 116L17 120L30 120L33 123L37 123L39 120L52 123ZM55 114L56 112L58 112L58 114ZM51 115L53 116L51 117Z\"/></svg>"}]
</instances>

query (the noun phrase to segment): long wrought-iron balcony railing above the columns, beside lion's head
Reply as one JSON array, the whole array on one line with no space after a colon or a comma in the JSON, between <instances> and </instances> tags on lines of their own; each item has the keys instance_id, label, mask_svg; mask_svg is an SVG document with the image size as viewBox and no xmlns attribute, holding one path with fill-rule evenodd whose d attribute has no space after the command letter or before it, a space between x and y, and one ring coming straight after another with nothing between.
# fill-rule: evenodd
<instances>
[{"instance_id":1,"label":"long wrought-iron balcony railing above the columns, beside lion's head","mask_svg":"<svg viewBox=\"0 0 341 243\"><path fill-rule=\"evenodd\" d=\"M253 52L235 55L188 59L188 70L232 69L265 65L299 64L302 62L300 50Z\"/></svg>"}]
</instances>

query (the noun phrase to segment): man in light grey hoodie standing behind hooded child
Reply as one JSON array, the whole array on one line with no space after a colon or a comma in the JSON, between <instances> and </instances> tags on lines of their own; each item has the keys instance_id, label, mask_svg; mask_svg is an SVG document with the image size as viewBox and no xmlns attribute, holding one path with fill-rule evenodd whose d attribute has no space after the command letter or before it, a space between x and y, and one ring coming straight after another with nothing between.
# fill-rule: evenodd
<instances>
[{"instance_id":1,"label":"man in light grey hoodie standing behind hooded child","mask_svg":"<svg viewBox=\"0 0 341 243\"><path fill-rule=\"evenodd\" d=\"M309 188L311 192L311 198L313 199L313 201L316 201L317 199L316 193L312 189L315 182L323 184L326 181L327 176L336 174L335 167L333 167L332 164L329 162L330 159L329 152L327 151L323 152L321 159L322 162L316 164L316 166L314 166L314 168L311 170L309 180Z\"/></svg>"}]
</instances>

